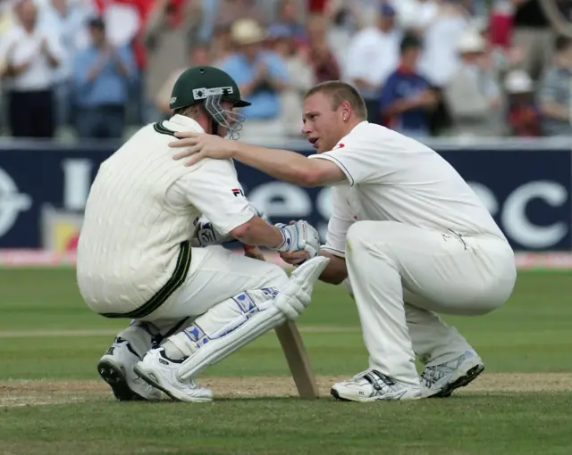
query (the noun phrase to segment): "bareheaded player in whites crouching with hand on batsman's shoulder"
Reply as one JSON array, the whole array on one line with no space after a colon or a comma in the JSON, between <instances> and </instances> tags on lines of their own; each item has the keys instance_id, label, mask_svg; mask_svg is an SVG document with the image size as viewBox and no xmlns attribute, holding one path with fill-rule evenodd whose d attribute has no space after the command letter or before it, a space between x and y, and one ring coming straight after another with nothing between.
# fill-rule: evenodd
<instances>
[{"instance_id":1,"label":"bareheaded player in whites crouching with hand on batsman's shoulder","mask_svg":"<svg viewBox=\"0 0 572 455\"><path fill-rule=\"evenodd\" d=\"M512 293L514 253L474 191L429 147L366 119L349 84L320 84L305 97L303 133L318 154L186 135L177 158L233 158L300 186L333 186L320 279L349 286L369 369L332 387L337 398L395 400L449 394L482 360L436 313L479 315ZM195 153L195 154L193 154ZM285 261L303 261L299 253ZM425 363L417 375L415 356Z\"/></svg>"}]
</instances>

